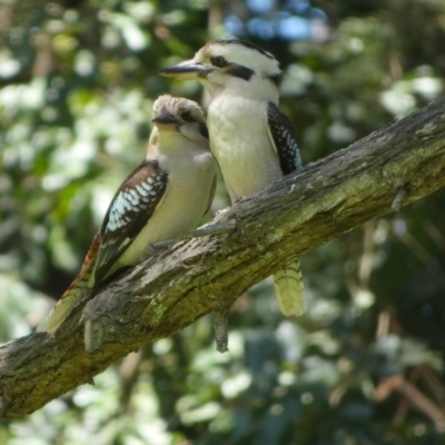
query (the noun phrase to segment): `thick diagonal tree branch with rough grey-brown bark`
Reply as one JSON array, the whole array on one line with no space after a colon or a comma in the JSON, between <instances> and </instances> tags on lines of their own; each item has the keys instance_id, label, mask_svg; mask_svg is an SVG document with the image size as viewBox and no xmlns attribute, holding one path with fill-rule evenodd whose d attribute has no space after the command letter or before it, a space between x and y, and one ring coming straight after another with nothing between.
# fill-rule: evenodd
<instances>
[{"instance_id":1,"label":"thick diagonal tree branch with rough grey-brown bark","mask_svg":"<svg viewBox=\"0 0 445 445\"><path fill-rule=\"evenodd\" d=\"M445 186L445 98L246 197L233 234L181 241L80 304L56 335L0 347L0 416L32 413L142 344L226 310L297 256ZM98 350L83 344L87 320Z\"/></svg>"}]
</instances>

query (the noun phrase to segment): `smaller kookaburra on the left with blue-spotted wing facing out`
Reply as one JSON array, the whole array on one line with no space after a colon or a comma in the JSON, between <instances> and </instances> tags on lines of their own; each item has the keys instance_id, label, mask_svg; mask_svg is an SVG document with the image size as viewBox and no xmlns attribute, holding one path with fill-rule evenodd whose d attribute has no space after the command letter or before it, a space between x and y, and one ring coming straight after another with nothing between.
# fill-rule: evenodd
<instances>
[{"instance_id":1,"label":"smaller kookaburra on the left with blue-spotted wing facing out","mask_svg":"<svg viewBox=\"0 0 445 445\"><path fill-rule=\"evenodd\" d=\"M38 332L53 332L87 290L135 265L147 247L192 230L209 209L216 187L216 162L206 119L187 99L159 97L147 156L111 200L82 268Z\"/></svg>"}]
</instances>

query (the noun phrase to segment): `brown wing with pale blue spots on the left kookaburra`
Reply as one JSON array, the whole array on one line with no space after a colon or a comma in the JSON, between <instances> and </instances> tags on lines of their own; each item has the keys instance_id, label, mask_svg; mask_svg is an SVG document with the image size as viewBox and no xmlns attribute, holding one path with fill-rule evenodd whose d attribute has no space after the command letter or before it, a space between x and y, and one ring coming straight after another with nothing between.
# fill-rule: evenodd
<instances>
[{"instance_id":1,"label":"brown wing with pale blue spots on the left kookaburra","mask_svg":"<svg viewBox=\"0 0 445 445\"><path fill-rule=\"evenodd\" d=\"M145 160L119 187L100 228L101 245L95 267L98 285L113 263L147 225L167 189L168 174L158 161Z\"/></svg>"}]
</instances>

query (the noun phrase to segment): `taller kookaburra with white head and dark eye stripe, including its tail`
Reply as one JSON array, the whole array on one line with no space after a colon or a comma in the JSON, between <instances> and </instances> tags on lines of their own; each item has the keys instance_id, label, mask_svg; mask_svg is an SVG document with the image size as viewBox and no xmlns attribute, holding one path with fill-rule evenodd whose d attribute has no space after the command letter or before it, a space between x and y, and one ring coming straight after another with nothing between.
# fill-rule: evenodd
<instances>
[{"instance_id":1,"label":"taller kookaburra with white head and dark eye stripe, including its tail","mask_svg":"<svg viewBox=\"0 0 445 445\"><path fill-rule=\"evenodd\" d=\"M215 41L194 59L159 73L197 79L210 92L210 147L233 201L301 167L294 129L278 109L281 70L269 52L246 41ZM299 261L277 271L274 279L281 312L303 314Z\"/></svg>"}]
</instances>

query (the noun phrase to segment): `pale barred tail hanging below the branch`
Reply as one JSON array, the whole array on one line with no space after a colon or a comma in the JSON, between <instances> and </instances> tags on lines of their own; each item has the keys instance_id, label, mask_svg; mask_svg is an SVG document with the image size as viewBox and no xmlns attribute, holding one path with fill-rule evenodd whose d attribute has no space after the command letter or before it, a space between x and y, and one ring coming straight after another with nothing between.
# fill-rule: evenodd
<instances>
[{"instance_id":1,"label":"pale barred tail hanging below the branch","mask_svg":"<svg viewBox=\"0 0 445 445\"><path fill-rule=\"evenodd\" d=\"M306 312L305 286L299 260L287 265L274 275L278 306L286 316L299 316Z\"/></svg>"}]
</instances>

